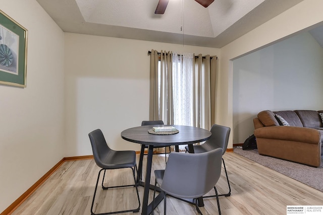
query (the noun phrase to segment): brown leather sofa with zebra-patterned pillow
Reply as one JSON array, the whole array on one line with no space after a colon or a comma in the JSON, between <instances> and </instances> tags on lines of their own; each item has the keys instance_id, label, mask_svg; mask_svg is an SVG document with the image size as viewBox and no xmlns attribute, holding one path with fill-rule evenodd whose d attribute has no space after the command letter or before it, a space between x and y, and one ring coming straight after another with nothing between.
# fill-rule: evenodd
<instances>
[{"instance_id":1,"label":"brown leather sofa with zebra-patterned pillow","mask_svg":"<svg viewBox=\"0 0 323 215\"><path fill-rule=\"evenodd\" d=\"M319 113L323 110L259 112L253 119L258 153L318 167L323 153L323 119Z\"/></svg>"}]
</instances>

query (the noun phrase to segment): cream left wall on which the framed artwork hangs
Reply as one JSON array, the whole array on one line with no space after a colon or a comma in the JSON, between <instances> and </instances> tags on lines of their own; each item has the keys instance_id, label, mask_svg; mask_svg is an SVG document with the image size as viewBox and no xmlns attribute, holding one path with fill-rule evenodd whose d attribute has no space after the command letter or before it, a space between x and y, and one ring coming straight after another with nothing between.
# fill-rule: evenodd
<instances>
[{"instance_id":1,"label":"cream left wall on which the framed artwork hangs","mask_svg":"<svg viewBox=\"0 0 323 215\"><path fill-rule=\"evenodd\" d=\"M28 30L27 87L0 85L0 212L64 153L64 33L34 0L1 0Z\"/></svg>"}]
</instances>

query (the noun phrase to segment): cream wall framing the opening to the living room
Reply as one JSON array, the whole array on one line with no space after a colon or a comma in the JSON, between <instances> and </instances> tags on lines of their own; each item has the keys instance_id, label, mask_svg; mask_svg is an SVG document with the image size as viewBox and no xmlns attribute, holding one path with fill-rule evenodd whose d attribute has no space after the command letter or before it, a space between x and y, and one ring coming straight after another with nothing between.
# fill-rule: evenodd
<instances>
[{"instance_id":1,"label":"cream wall framing the opening to the living room","mask_svg":"<svg viewBox=\"0 0 323 215\"><path fill-rule=\"evenodd\" d=\"M323 21L322 7L321 0L304 0L221 48L217 123L233 128L232 60L319 24ZM232 147L233 135L230 135L228 148Z\"/></svg>"}]
</instances>

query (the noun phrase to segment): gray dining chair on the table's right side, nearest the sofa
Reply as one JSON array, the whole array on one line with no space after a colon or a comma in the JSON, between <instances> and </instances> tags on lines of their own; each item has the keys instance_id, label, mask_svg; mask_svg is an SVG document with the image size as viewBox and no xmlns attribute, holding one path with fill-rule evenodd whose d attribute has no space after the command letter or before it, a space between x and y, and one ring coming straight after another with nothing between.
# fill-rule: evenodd
<instances>
[{"instance_id":1,"label":"gray dining chair on the table's right side, nearest the sofa","mask_svg":"<svg viewBox=\"0 0 323 215\"><path fill-rule=\"evenodd\" d=\"M214 124L211 127L211 137L204 142L204 144L201 145L194 145L194 153L204 153L208 152L214 149L222 148L223 149L223 154L224 155L227 151L228 147L228 142L229 142L229 136L230 136L230 127L226 127L223 125L218 125ZM186 152L189 152L188 147L185 147ZM222 158L223 161L223 166L224 170L227 176L227 182L228 182L228 187L229 187L229 192L226 194L219 194L219 196L230 196L231 195L231 187L230 187L230 182L228 178L228 173L227 173L227 168L226 164L224 162L224 159ZM203 198L208 198L208 197L214 197L215 195L209 195L209 196L203 196Z\"/></svg>"}]
</instances>

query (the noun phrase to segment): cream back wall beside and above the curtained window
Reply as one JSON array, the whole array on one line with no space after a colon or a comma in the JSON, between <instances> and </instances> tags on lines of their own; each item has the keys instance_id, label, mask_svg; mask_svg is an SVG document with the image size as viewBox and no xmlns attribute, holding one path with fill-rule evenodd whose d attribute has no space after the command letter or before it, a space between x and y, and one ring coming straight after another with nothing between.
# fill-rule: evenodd
<instances>
[{"instance_id":1,"label":"cream back wall beside and above the curtained window","mask_svg":"<svg viewBox=\"0 0 323 215\"><path fill-rule=\"evenodd\" d=\"M139 151L121 131L149 120L148 50L219 55L219 49L65 34L65 157L91 155L88 133L100 128L117 150Z\"/></svg>"}]
</instances>

